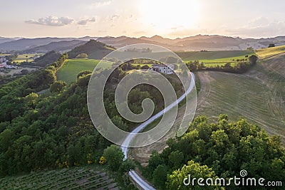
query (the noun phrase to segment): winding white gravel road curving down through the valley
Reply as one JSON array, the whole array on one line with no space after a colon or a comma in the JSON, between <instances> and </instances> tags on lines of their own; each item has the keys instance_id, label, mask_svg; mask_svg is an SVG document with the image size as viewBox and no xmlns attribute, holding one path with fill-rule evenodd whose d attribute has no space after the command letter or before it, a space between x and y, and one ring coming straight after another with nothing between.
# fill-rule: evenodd
<instances>
[{"instance_id":1,"label":"winding white gravel road curving down through the valley","mask_svg":"<svg viewBox=\"0 0 285 190\"><path fill-rule=\"evenodd\" d=\"M179 97L177 99L177 101L172 102L170 105L165 107L164 110L158 112L156 115L150 117L150 119L146 120L141 125L136 127L135 130L130 132L128 137L125 138L122 146L120 147L123 150L123 152L124 152L125 159L127 159L127 157L128 157L128 146L129 146L130 142L132 141L132 139L135 137L135 133L138 133L138 132L142 131L151 122L153 122L157 118L161 117L164 114L164 112L167 112L168 110L172 109L172 107L175 107L179 102L181 102L193 90L193 88L195 87L195 75L193 73L190 73L190 74L191 74L191 77L192 77L193 80L191 80L190 87L185 92L185 94L183 94L181 97ZM155 188L153 186L148 184L147 181L142 179L135 171L129 171L129 175L142 189L155 190Z\"/></svg>"}]
</instances>

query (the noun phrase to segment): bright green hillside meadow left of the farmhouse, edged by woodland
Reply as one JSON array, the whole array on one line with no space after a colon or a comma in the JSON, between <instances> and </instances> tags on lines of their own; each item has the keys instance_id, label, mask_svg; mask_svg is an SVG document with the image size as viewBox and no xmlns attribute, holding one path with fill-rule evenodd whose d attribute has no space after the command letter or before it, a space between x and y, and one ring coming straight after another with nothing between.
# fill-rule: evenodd
<instances>
[{"instance_id":1,"label":"bright green hillside meadow left of the farmhouse, edged by woodland","mask_svg":"<svg viewBox=\"0 0 285 190\"><path fill-rule=\"evenodd\" d=\"M63 80L66 83L71 83L76 80L78 73L83 70L91 70L99 63L99 60L92 59L69 59L63 66L56 72L58 80ZM112 62L105 62L106 67L110 68Z\"/></svg>"}]
</instances>

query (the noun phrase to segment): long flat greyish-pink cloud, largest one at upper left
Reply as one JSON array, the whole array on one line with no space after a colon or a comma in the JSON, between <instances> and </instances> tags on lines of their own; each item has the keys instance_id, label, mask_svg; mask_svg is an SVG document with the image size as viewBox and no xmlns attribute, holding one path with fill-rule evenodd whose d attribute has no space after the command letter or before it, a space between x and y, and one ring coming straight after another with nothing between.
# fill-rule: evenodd
<instances>
[{"instance_id":1,"label":"long flat greyish-pink cloud, largest one at upper left","mask_svg":"<svg viewBox=\"0 0 285 190\"><path fill-rule=\"evenodd\" d=\"M47 17L40 18L38 20L28 20L25 22L45 25L45 26L66 26L68 24L73 23L73 21L74 19L71 19L68 16L65 16L65 17L47 16Z\"/></svg>"}]
</instances>

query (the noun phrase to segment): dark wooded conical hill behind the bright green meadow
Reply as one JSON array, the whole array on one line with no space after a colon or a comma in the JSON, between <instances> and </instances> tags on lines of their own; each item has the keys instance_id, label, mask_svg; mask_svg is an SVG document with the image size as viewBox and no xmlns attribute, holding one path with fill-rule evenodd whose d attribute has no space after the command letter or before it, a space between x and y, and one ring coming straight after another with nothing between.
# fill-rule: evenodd
<instances>
[{"instance_id":1,"label":"dark wooded conical hill behind the bright green meadow","mask_svg":"<svg viewBox=\"0 0 285 190\"><path fill-rule=\"evenodd\" d=\"M107 46L100 41L90 40L87 43L74 48L72 51L69 51L68 58L76 58L78 54L86 53L88 58L101 59L113 50L115 50L115 48L112 46Z\"/></svg>"}]
</instances>

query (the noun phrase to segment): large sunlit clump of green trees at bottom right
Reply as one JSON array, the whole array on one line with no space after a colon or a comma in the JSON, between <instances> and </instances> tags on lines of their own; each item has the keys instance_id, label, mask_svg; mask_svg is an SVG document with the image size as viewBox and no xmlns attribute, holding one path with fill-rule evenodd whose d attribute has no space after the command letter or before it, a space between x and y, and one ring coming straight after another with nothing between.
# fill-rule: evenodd
<instances>
[{"instance_id":1,"label":"large sunlit clump of green trees at bottom right","mask_svg":"<svg viewBox=\"0 0 285 190\"><path fill-rule=\"evenodd\" d=\"M284 183L285 151L281 138L269 137L260 127L244 119L229 122L227 115L223 114L219 115L217 123L209 123L207 117L199 116L187 133L169 139L167 145L161 154L152 152L143 170L157 189L199 189L202 187L197 184L183 184L188 174L192 179L229 179L239 177L242 169L247 170L247 177ZM228 188L240 187L232 183ZM208 189L217 189L217 186L209 186Z\"/></svg>"}]
</instances>

